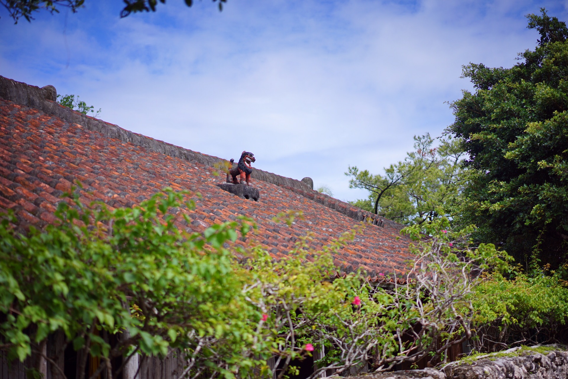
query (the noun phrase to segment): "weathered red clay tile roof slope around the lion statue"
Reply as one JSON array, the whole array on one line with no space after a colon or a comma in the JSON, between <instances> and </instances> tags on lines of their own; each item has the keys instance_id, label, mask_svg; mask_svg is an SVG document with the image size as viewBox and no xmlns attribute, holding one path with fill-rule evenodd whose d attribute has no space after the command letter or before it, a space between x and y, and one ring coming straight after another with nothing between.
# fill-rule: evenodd
<instances>
[{"instance_id":1,"label":"weathered red clay tile roof slope around the lion statue","mask_svg":"<svg viewBox=\"0 0 568 379\"><path fill-rule=\"evenodd\" d=\"M195 198L194 211L178 210L193 220L183 227L201 232L212 223L247 215L258 224L253 238L276 258L286 256L307 231L314 233L310 245L317 249L360 226L352 218L360 212L313 190L255 180L260 201L236 197L216 186L224 174L214 176L214 170L0 98L0 209L14 210L23 226L53 222L60 195L76 180L85 186L80 190L84 203L99 200L112 207L135 205L166 186L199 192L203 197ZM274 215L286 210L302 211L304 219L291 227L273 222ZM362 268L379 280L379 273L404 272L412 256L407 252L410 240L399 229L388 220L386 227L365 227L335 255L341 274Z\"/></svg>"}]
</instances>

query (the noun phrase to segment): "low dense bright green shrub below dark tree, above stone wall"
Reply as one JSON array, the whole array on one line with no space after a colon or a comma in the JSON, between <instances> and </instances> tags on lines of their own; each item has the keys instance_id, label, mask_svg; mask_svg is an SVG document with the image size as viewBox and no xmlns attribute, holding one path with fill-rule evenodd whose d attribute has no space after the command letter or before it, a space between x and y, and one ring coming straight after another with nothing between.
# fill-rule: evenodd
<instances>
[{"instance_id":1,"label":"low dense bright green shrub below dark tree, above stone wall","mask_svg":"<svg viewBox=\"0 0 568 379\"><path fill-rule=\"evenodd\" d=\"M476 351L566 342L568 288L555 272L492 274L475 289L473 306Z\"/></svg>"}]
</instances>

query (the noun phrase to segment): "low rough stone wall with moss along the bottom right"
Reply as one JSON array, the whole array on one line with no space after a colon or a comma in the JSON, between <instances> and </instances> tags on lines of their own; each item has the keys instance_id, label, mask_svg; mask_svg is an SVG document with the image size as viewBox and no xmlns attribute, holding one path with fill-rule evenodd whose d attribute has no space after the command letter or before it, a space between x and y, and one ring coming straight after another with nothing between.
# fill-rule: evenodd
<instances>
[{"instance_id":1,"label":"low rough stone wall with moss along the bottom right","mask_svg":"<svg viewBox=\"0 0 568 379\"><path fill-rule=\"evenodd\" d=\"M474 363L446 365L443 370L427 368L364 374L351 379L567 379L568 351L544 354L521 353L520 356L487 356Z\"/></svg>"}]
</instances>

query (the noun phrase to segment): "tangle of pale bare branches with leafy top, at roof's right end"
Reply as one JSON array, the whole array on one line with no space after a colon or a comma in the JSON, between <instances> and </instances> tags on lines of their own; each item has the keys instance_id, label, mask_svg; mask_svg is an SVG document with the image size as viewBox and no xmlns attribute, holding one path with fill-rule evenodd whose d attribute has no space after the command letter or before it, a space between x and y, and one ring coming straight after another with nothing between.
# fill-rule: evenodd
<instances>
[{"instance_id":1,"label":"tangle of pale bare branches with leafy top, at roof's right end","mask_svg":"<svg viewBox=\"0 0 568 379\"><path fill-rule=\"evenodd\" d=\"M512 260L493 244L473 246L470 235L474 230L469 226L452 231L446 218L402 230L415 241L410 251L416 259L400 297L414 299L417 315L413 324L421 328L415 332L418 343L412 347L430 353L431 364L438 356L445 362L448 348L471 337L477 286L486 273L503 272Z\"/></svg>"}]
</instances>

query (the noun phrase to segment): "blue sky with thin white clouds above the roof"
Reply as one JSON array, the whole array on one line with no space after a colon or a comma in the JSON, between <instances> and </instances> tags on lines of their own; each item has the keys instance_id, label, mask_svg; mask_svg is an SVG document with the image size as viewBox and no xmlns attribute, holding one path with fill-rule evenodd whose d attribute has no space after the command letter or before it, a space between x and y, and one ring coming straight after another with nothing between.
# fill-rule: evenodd
<instances>
[{"instance_id":1,"label":"blue sky with thin white clouds above the roof","mask_svg":"<svg viewBox=\"0 0 568 379\"><path fill-rule=\"evenodd\" d=\"M536 44L525 14L563 1L182 0L119 18L119 0L14 25L0 10L0 75L78 94L107 122L255 166L335 197L348 165L380 173L412 136L441 135L469 62L510 67Z\"/></svg>"}]
</instances>

